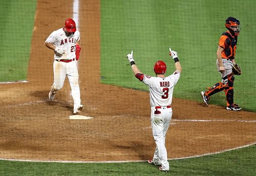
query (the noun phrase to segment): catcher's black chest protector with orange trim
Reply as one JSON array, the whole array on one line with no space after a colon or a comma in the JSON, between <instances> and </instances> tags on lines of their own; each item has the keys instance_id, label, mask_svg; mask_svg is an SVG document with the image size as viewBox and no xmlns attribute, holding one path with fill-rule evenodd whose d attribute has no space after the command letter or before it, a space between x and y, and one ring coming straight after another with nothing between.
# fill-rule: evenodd
<instances>
[{"instance_id":1,"label":"catcher's black chest protector with orange trim","mask_svg":"<svg viewBox=\"0 0 256 176\"><path fill-rule=\"evenodd\" d=\"M234 59L234 56L236 55L238 37L233 37L228 32L224 32L222 35L228 36L228 38L225 40L225 43L228 46L228 48L224 49L223 54L225 54L225 57L223 58Z\"/></svg>"}]
</instances>

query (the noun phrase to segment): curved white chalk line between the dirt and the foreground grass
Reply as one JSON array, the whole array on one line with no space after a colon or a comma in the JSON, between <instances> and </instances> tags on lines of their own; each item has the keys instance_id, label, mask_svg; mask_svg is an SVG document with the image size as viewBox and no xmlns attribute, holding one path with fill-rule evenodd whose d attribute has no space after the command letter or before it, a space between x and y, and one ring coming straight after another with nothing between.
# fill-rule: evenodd
<instances>
[{"instance_id":1,"label":"curved white chalk line between the dirt and the foreground grass","mask_svg":"<svg viewBox=\"0 0 256 176\"><path fill-rule=\"evenodd\" d=\"M231 151L231 150L236 150L244 147L249 147L251 145L255 145L256 142L239 146L239 147L234 147L230 149L225 149L221 151L216 151L216 152L211 152L211 153L204 153L202 155L194 155L190 157L182 157L182 158L170 158L168 160L182 160L182 159L189 159L189 158L198 158L198 157L204 157L204 156L209 156L209 155L215 155L219 153L224 153L226 151ZM5 161L20 161L20 162L47 162L47 163L131 163L131 162L146 162L147 160L129 160L129 161L53 161L53 160L17 160L17 159L2 159L0 160L5 160Z\"/></svg>"}]
</instances>

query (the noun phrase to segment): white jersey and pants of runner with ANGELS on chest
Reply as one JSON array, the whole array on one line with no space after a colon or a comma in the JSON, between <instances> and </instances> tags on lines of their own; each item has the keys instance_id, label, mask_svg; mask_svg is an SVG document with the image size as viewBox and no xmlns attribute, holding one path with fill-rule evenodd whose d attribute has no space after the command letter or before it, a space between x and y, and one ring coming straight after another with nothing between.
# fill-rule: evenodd
<instances>
[{"instance_id":1,"label":"white jersey and pants of runner with ANGELS on chest","mask_svg":"<svg viewBox=\"0 0 256 176\"><path fill-rule=\"evenodd\" d=\"M76 58L76 42L80 40L80 32L67 36L64 28L53 31L46 39L46 43L52 43L55 47L65 50L64 54L54 51L53 74L54 82L51 90L55 93L63 87L66 76L69 79L72 97L74 99L74 112L81 106L80 88L78 84L78 64ZM70 60L65 62L63 60ZM62 60L62 61L61 61Z\"/></svg>"}]
</instances>

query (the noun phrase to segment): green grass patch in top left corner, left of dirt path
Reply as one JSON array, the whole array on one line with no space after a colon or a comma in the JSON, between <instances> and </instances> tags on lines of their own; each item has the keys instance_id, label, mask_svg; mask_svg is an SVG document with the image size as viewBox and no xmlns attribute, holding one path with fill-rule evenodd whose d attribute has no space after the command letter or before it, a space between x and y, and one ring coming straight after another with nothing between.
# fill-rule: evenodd
<instances>
[{"instance_id":1,"label":"green grass patch in top left corner, left of dirt path","mask_svg":"<svg viewBox=\"0 0 256 176\"><path fill-rule=\"evenodd\" d=\"M36 0L1 1L0 82L26 80Z\"/></svg>"}]
</instances>

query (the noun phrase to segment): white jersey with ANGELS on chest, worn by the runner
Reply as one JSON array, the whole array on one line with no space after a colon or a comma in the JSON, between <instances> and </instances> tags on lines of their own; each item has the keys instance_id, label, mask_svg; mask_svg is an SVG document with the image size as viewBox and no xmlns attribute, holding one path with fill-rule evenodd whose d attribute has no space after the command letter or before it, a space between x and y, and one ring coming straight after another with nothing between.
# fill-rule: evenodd
<instances>
[{"instance_id":1,"label":"white jersey with ANGELS on chest, worn by the runner","mask_svg":"<svg viewBox=\"0 0 256 176\"><path fill-rule=\"evenodd\" d=\"M45 42L52 43L55 47L61 48L66 52L59 54L54 52L54 59L73 59L76 58L76 42L80 40L80 32L76 30L74 34L66 36L63 28L53 31Z\"/></svg>"}]
</instances>

